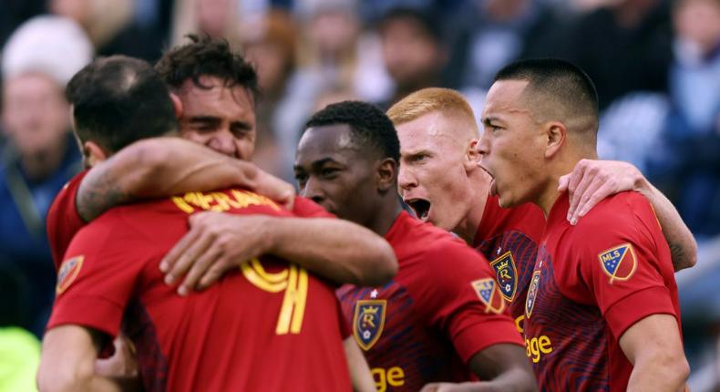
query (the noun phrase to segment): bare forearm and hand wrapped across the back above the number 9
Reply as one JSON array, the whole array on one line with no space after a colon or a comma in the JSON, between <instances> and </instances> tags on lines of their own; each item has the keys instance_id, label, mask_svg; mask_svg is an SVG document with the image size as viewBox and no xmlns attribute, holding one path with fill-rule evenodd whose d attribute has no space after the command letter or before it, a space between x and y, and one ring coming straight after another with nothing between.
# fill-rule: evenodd
<instances>
[{"instance_id":1,"label":"bare forearm and hand wrapped across the back above the number 9","mask_svg":"<svg viewBox=\"0 0 720 392\"><path fill-rule=\"evenodd\" d=\"M187 273L180 294L217 281L222 273L273 254L337 283L384 284L397 273L395 253L382 237L353 222L201 212L160 263L172 284Z\"/></svg>"}]
</instances>

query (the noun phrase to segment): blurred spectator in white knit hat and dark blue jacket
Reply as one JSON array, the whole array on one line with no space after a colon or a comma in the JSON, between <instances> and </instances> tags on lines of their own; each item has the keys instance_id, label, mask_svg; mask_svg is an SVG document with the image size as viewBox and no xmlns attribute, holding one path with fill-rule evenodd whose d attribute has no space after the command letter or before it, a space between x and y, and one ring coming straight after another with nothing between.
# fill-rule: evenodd
<instances>
[{"instance_id":1,"label":"blurred spectator in white knit hat and dark blue jacket","mask_svg":"<svg viewBox=\"0 0 720 392\"><path fill-rule=\"evenodd\" d=\"M42 334L55 273L45 218L63 184L80 169L63 95L67 80L92 57L83 30L59 16L37 16L5 45L2 122L7 143L0 162L0 255L15 263L31 288L30 320Z\"/></svg>"}]
</instances>

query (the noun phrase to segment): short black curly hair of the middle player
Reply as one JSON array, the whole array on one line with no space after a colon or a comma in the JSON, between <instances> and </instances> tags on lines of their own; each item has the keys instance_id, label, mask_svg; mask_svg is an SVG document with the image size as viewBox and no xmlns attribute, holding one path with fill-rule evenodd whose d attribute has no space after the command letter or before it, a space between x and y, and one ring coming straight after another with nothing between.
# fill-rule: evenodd
<instances>
[{"instance_id":1,"label":"short black curly hair of the middle player","mask_svg":"<svg viewBox=\"0 0 720 392\"><path fill-rule=\"evenodd\" d=\"M400 141L393 122L375 105L346 100L326 106L305 123L305 129L346 124L355 140L372 147L381 158L400 160Z\"/></svg>"}]
</instances>

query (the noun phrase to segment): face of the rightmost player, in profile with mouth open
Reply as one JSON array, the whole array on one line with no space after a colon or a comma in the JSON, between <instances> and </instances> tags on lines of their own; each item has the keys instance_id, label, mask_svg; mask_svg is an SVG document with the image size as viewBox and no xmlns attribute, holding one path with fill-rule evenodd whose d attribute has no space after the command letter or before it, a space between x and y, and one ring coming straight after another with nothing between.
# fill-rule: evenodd
<instances>
[{"instance_id":1,"label":"face of the rightmost player, in profile with mouth open","mask_svg":"<svg viewBox=\"0 0 720 392\"><path fill-rule=\"evenodd\" d=\"M543 134L521 98L527 81L501 80L488 91L478 144L481 166L493 177L490 192L502 207L533 201L540 190Z\"/></svg>"}]
</instances>

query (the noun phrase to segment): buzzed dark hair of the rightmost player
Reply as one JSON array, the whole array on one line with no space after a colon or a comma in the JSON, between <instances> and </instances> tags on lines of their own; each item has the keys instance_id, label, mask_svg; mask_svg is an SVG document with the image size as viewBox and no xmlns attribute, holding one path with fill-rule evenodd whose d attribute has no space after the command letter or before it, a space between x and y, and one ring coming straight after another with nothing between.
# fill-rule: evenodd
<instances>
[{"instance_id":1,"label":"buzzed dark hair of the rightmost player","mask_svg":"<svg viewBox=\"0 0 720 392\"><path fill-rule=\"evenodd\" d=\"M538 91L580 116L598 118L598 93L590 77L580 67L558 58L516 61L495 75L499 80L527 80ZM597 131L597 125L595 125Z\"/></svg>"}]
</instances>

